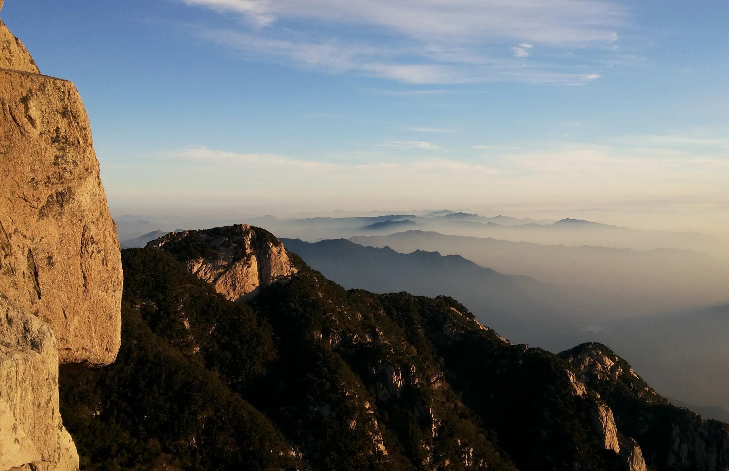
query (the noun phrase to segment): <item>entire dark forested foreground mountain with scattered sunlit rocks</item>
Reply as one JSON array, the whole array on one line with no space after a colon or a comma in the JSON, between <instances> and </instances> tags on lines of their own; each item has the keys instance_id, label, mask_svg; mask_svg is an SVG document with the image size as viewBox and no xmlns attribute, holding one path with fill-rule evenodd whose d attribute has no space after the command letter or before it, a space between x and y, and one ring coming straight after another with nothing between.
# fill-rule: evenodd
<instances>
[{"instance_id":1,"label":"entire dark forested foreground mountain with scattered sunlit rocks","mask_svg":"<svg viewBox=\"0 0 729 471\"><path fill-rule=\"evenodd\" d=\"M84 469L729 465L728 426L670 405L601 344L514 345L451 297L347 291L292 252L289 275L228 300L191 262L245 265L280 243L240 226L173 242L122 251L117 361L61 372Z\"/></svg>"}]
</instances>

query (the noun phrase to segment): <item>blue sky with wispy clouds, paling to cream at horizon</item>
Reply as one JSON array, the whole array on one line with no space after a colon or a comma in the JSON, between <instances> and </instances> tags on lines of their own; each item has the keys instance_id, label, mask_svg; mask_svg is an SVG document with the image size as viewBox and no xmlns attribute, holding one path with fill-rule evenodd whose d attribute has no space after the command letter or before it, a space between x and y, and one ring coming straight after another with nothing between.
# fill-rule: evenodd
<instances>
[{"instance_id":1,"label":"blue sky with wispy clouds, paling to cream at horizon","mask_svg":"<svg viewBox=\"0 0 729 471\"><path fill-rule=\"evenodd\" d=\"M729 4L7 0L112 209L729 207Z\"/></svg>"}]
</instances>

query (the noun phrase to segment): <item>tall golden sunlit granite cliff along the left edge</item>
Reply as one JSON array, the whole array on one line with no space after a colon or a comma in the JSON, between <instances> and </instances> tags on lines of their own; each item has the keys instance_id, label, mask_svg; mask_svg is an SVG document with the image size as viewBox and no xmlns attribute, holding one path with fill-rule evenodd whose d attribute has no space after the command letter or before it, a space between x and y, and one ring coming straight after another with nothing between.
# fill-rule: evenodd
<instances>
[{"instance_id":1,"label":"tall golden sunlit granite cliff along the left edge","mask_svg":"<svg viewBox=\"0 0 729 471\"><path fill-rule=\"evenodd\" d=\"M75 470L58 364L114 361L119 244L76 87L4 23L0 114L0 470Z\"/></svg>"}]
</instances>

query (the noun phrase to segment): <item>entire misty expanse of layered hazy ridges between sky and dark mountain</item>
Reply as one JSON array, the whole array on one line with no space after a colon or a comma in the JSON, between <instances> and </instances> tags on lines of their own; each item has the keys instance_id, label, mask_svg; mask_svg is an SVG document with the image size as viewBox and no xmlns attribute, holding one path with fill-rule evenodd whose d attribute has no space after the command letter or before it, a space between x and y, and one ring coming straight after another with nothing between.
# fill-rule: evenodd
<instances>
[{"instance_id":1,"label":"entire misty expanse of layered hazy ridges between sky and dark mountain","mask_svg":"<svg viewBox=\"0 0 729 471\"><path fill-rule=\"evenodd\" d=\"M122 246L167 233L123 241L148 227L230 223L170 219L118 219ZM604 343L661 394L709 418L727 417L725 239L463 211L243 220L285 235L289 252L346 289L451 296L504 338L549 351Z\"/></svg>"}]
</instances>

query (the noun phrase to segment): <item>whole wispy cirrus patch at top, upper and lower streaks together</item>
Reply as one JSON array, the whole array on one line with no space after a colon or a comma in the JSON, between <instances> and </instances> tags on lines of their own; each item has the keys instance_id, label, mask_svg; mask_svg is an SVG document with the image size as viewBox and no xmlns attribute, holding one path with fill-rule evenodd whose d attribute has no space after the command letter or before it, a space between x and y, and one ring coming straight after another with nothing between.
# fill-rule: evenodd
<instances>
[{"instance_id":1,"label":"whole wispy cirrus patch at top, upper and lower streaks together","mask_svg":"<svg viewBox=\"0 0 729 471\"><path fill-rule=\"evenodd\" d=\"M609 0L179 1L243 17L190 29L246 59L416 85L590 82L631 25ZM519 60L537 45L539 61ZM589 52L584 62L558 59L574 49Z\"/></svg>"}]
</instances>

